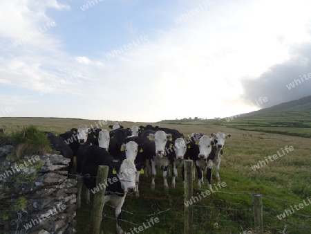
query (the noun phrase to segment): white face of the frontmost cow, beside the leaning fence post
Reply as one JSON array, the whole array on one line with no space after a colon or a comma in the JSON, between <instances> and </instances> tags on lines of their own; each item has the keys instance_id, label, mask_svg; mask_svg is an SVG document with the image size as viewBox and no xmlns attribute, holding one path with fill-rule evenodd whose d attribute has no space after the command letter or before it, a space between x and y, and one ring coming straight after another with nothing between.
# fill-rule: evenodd
<instances>
[{"instance_id":1,"label":"white face of the frontmost cow, beside the leaning fence post","mask_svg":"<svg viewBox=\"0 0 311 234\"><path fill-rule=\"evenodd\" d=\"M119 178L121 183L121 188L125 193L136 191L136 179L137 170L133 160L124 159L120 166Z\"/></svg>"}]
</instances>

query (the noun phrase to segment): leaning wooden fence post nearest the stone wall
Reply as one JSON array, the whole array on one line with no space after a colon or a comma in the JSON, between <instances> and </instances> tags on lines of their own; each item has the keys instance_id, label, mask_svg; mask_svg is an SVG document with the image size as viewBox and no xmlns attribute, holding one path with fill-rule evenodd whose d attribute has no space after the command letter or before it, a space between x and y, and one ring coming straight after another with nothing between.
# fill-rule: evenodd
<instances>
[{"instance_id":1,"label":"leaning wooden fence post nearest the stone wall","mask_svg":"<svg viewBox=\"0 0 311 234\"><path fill-rule=\"evenodd\" d=\"M106 192L107 177L109 167L106 165L98 166L96 187L100 192L96 192L93 199L93 222L91 225L92 234L100 234L100 223L102 222L102 210L104 208L104 193Z\"/></svg>"}]
</instances>

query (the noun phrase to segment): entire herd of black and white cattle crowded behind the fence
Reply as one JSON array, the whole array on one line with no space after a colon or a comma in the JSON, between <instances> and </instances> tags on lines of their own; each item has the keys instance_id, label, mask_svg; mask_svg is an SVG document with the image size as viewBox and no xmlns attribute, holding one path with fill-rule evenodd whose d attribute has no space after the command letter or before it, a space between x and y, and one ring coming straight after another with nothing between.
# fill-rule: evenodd
<instances>
[{"instance_id":1,"label":"entire herd of black and white cattle crowded behind the fence","mask_svg":"<svg viewBox=\"0 0 311 234\"><path fill-rule=\"evenodd\" d=\"M117 233L123 233L120 227L120 213L126 194L135 192L139 197L140 174L147 175L151 170L151 189L154 189L156 168L159 168L162 170L164 188L167 189L169 188L167 172L171 165L173 169L171 187L175 187L178 168L182 170L182 181L185 184L183 161L191 159L198 173L198 188L201 188L203 172L207 169L207 186L211 190L213 164L216 165L216 179L220 180L218 173L220 159L225 139L230 134L218 132L209 137L193 133L186 138L176 129L152 125L145 127L134 125L130 129L115 123L109 127L111 131L90 129L86 125L80 125L59 136L52 133L47 133L47 136L53 149L71 159L68 166L69 174L73 167L73 158L76 156L77 174L83 177L84 184L88 188L87 202L89 191L96 186L98 166L109 166L107 181L113 183L106 183L104 202L111 201L115 206ZM78 206L79 201L81 201L81 186L77 197Z\"/></svg>"}]
</instances>

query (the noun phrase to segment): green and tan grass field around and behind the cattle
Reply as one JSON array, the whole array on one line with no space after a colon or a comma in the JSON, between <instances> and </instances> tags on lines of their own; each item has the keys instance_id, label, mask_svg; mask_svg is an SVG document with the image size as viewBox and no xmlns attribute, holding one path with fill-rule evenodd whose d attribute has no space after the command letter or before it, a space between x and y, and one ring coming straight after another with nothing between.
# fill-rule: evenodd
<instances>
[{"instance_id":1,"label":"green and tan grass field around and behind the cattle","mask_svg":"<svg viewBox=\"0 0 311 234\"><path fill-rule=\"evenodd\" d=\"M305 118L305 117L304 117ZM308 117L307 117L308 118ZM236 119L238 120L238 118ZM254 120L256 121L256 120ZM260 123L265 124L267 119ZM283 118L282 118L283 121ZM91 126L97 120L79 120L62 118L0 118L0 127L5 131L14 131L23 125L37 125L39 129L55 133L65 132L79 124ZM226 121L227 122L227 121ZM110 125L112 122L109 122ZM124 127L134 123L123 122ZM135 125L147 123L135 123ZM227 139L224 156L220 164L220 179L227 186L208 197L197 201L194 208L194 233L242 233L254 227L252 214L252 194L260 193L263 197L263 224L265 233L310 233L311 206L294 210L292 215L279 220L276 215L290 210L295 205L308 203L311 200L311 147L308 134L311 128L300 127L305 137L288 136L290 127L280 127L282 134L254 132L238 129L234 120L226 123L221 121L198 120L189 123L177 120L171 123L156 123L160 127L178 129L185 136L192 132L202 132L210 136L211 132L223 131L232 136ZM230 126L229 126L230 125ZM245 126L244 126L245 127ZM254 126L248 126L254 127ZM267 127L267 126L266 126ZM107 126L102 128L108 129ZM267 127L268 128L268 127ZM259 130L259 129L256 129ZM273 129L275 131L275 129ZM294 129L293 129L294 131ZM306 134L306 135L305 135ZM306 137L307 136L307 137ZM285 146L294 150L286 153L275 161L270 161L258 170L251 166L276 154ZM214 170L213 176L215 177ZM162 176L158 171L156 190L150 190L151 177L141 177L140 198L126 197L122 213L124 231L131 233L134 227L142 226L150 217L158 217L160 222L140 233L182 233L184 225L184 191L181 173L179 172L176 188L164 191ZM216 183L213 181L212 185ZM169 177L169 185L171 177ZM214 186L212 186L214 188ZM205 183L201 190L196 188L194 195L207 190ZM225 193L226 192L226 193ZM82 208L77 210L77 231L88 233L91 225L93 204L86 205L82 200ZM104 233L115 232L114 209L104 207L105 217L102 222ZM131 229L132 228L132 229ZM135 232L133 232L135 233Z\"/></svg>"}]
</instances>

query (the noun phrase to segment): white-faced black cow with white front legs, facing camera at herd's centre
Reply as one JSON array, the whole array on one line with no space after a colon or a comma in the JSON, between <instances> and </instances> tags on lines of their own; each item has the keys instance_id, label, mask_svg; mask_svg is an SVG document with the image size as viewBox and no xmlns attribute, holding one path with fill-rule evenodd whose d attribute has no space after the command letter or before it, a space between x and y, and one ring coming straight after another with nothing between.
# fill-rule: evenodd
<instances>
[{"instance_id":1,"label":"white-faced black cow with white front legs, facing camera at herd's centre","mask_svg":"<svg viewBox=\"0 0 311 234\"><path fill-rule=\"evenodd\" d=\"M169 161L171 160L170 152L168 148L173 147L173 141L171 134L166 134L164 131L154 132L153 130L147 130L142 133L142 140L147 150L147 155L151 164L151 189L155 188L156 179L156 166L162 168L162 175L164 179L164 188L169 188L167 183L167 168L169 167Z\"/></svg>"}]
</instances>

